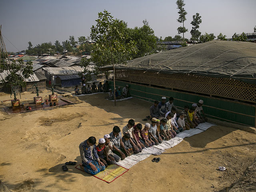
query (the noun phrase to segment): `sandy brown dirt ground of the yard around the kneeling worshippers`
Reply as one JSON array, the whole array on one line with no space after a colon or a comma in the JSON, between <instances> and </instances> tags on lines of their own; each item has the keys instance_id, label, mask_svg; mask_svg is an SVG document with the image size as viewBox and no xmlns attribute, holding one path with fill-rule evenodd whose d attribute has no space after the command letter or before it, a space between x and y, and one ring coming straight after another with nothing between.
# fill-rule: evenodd
<instances>
[{"instance_id":1,"label":"sandy brown dirt ground of the yard around the kneeling worshippers","mask_svg":"<svg viewBox=\"0 0 256 192\"><path fill-rule=\"evenodd\" d=\"M44 91L43 94L50 94ZM35 94L23 93L23 100ZM62 165L81 162L78 146L89 136L97 140L122 128L130 118L136 123L148 116L151 103L132 98L114 102L106 94L66 99L74 105L8 115L0 103L0 180L16 192L55 191L220 191L237 182L256 158L256 135L224 126L213 126L185 138L151 162L139 162L108 184L85 172ZM8 100L0 94L0 100ZM225 166L226 171L218 170Z\"/></svg>"}]
</instances>

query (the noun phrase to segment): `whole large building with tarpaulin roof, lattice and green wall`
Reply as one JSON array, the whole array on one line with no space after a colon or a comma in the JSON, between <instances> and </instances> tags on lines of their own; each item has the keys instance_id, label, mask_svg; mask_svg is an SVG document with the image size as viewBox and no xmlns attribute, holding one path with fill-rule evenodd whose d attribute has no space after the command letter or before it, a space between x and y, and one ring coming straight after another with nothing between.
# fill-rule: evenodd
<instances>
[{"instance_id":1,"label":"whole large building with tarpaulin roof, lattice and green wall","mask_svg":"<svg viewBox=\"0 0 256 192\"><path fill-rule=\"evenodd\" d=\"M214 40L136 58L116 66L116 86L126 84L130 94L140 99L154 102L172 96L180 109L202 99L209 118L256 126L256 44L252 42Z\"/></svg>"}]
</instances>

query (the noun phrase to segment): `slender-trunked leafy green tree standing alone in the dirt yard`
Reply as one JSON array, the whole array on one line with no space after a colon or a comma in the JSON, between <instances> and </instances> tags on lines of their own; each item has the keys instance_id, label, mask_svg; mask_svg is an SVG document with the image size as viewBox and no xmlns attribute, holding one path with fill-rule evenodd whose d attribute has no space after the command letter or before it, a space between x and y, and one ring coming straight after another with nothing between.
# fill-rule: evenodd
<instances>
[{"instance_id":1,"label":"slender-trunked leafy green tree standing alone in the dirt yard","mask_svg":"<svg viewBox=\"0 0 256 192\"><path fill-rule=\"evenodd\" d=\"M128 40L127 24L118 19L113 19L111 14L104 10L98 13L96 26L92 26L90 37L96 40L93 52L89 60L101 67L111 64L114 70L114 88L115 82L115 66L118 64L126 64L127 60L131 60L131 56L137 52L134 40ZM115 106L116 96L114 94Z\"/></svg>"}]
</instances>

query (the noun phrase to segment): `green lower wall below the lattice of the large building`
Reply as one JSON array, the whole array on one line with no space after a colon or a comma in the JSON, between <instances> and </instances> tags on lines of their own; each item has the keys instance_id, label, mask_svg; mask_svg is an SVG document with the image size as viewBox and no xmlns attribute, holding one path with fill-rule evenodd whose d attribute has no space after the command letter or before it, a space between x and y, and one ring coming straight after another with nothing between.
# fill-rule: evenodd
<instances>
[{"instance_id":1,"label":"green lower wall below the lattice of the large building","mask_svg":"<svg viewBox=\"0 0 256 192\"><path fill-rule=\"evenodd\" d=\"M114 82L109 81L109 84L113 90ZM140 84L116 81L116 87L120 86L123 88L126 86L126 84L129 85L130 94L135 98L154 102L154 100L160 101L162 96L166 96L166 101L168 101L169 97L173 97L174 105L180 109L184 108L185 105L191 106L192 103L196 103L198 100L202 99L204 100L204 112L209 118L217 118L220 120L226 120L228 122L236 122L239 124L255 126L255 105L244 104L241 102L232 102L229 100L222 100L196 94L177 92L168 89L154 88Z\"/></svg>"}]
</instances>

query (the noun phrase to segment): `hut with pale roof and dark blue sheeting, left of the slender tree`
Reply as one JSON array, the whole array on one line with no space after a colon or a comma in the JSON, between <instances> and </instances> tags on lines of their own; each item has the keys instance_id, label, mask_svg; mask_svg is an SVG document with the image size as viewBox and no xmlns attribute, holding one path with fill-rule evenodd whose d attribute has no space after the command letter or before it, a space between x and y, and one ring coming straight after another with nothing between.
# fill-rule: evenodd
<instances>
[{"instance_id":1,"label":"hut with pale roof and dark blue sheeting, left of the slender tree","mask_svg":"<svg viewBox=\"0 0 256 192\"><path fill-rule=\"evenodd\" d=\"M83 72L84 69L80 66L73 66L73 67L46 67L43 68L45 72L45 76L54 84L58 84L62 86L66 86L67 84L69 86L75 86L78 81L80 82L80 76L78 76L78 73ZM76 75L76 76L75 76ZM65 76L65 77L64 77ZM58 77L58 78L57 78ZM67 81L70 81L70 83L67 83ZM80 83L78 83L80 84Z\"/></svg>"}]
</instances>

